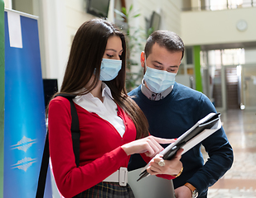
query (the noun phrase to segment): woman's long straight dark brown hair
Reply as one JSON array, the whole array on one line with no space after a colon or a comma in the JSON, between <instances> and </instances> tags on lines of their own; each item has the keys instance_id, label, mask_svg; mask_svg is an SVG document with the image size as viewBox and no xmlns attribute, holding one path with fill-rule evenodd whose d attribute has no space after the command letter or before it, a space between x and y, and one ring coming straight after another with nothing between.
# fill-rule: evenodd
<instances>
[{"instance_id":1,"label":"woman's long straight dark brown hair","mask_svg":"<svg viewBox=\"0 0 256 198\"><path fill-rule=\"evenodd\" d=\"M114 25L101 19L86 21L76 32L65 76L59 93L84 95L94 89L99 82L100 66L108 39L117 35L122 40L122 68L112 81L105 82L114 97L114 101L133 120L137 130L136 139L148 135L147 118L125 89L126 43L125 36ZM94 79L90 81L92 76ZM89 83L90 82L90 83ZM85 90L86 87L86 90ZM56 93L57 94L57 93Z\"/></svg>"}]
</instances>

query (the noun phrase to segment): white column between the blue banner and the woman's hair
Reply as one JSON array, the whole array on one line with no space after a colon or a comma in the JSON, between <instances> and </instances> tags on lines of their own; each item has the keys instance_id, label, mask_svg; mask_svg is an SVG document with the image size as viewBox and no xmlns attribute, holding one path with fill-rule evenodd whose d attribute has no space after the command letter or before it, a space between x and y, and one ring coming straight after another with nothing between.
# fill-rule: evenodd
<instances>
[{"instance_id":1,"label":"white column between the blue banner and the woman's hair","mask_svg":"<svg viewBox=\"0 0 256 198\"><path fill-rule=\"evenodd\" d=\"M68 59L66 40L65 0L41 0L42 34L44 35L45 76L62 83Z\"/></svg>"}]
</instances>

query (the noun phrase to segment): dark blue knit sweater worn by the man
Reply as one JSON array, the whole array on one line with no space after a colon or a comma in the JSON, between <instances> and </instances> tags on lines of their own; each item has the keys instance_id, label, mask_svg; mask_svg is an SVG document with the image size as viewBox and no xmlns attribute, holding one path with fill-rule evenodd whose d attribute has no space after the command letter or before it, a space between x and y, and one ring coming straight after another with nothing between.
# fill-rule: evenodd
<instances>
[{"instance_id":1,"label":"dark blue knit sweater worn by the man","mask_svg":"<svg viewBox=\"0 0 256 198\"><path fill-rule=\"evenodd\" d=\"M150 134L161 138L178 138L205 115L216 112L208 97L179 83L175 83L171 93L160 101L150 101L141 92L141 86L128 95L133 96L146 115ZM205 164L200 152L201 144L209 155ZM233 149L222 127L201 144L182 155L184 170L180 177L173 180L175 188L186 182L191 183L198 190L200 198L206 197L208 187L229 170L234 159ZM145 165L140 155L134 154L130 158L128 170Z\"/></svg>"}]
</instances>

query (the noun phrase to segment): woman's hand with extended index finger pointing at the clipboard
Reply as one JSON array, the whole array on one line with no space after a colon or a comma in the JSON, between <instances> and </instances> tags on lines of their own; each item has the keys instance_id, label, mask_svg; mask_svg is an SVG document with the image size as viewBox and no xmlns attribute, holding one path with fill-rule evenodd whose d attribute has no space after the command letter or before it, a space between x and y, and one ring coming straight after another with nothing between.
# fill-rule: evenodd
<instances>
[{"instance_id":1,"label":"woman's hand with extended index finger pointing at the clipboard","mask_svg":"<svg viewBox=\"0 0 256 198\"><path fill-rule=\"evenodd\" d=\"M145 153L147 157L153 158L163 150L160 144L171 144L173 142L175 142L175 139L162 139L150 135L147 138L137 139L128 144L123 144L121 148L123 148L127 155Z\"/></svg>"}]
</instances>

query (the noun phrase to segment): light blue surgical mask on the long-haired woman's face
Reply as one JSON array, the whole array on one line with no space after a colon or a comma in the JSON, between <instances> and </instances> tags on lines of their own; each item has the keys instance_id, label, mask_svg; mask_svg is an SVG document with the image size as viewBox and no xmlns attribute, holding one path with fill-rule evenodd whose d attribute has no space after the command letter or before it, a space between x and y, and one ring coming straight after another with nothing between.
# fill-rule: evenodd
<instances>
[{"instance_id":1,"label":"light blue surgical mask on the long-haired woman's face","mask_svg":"<svg viewBox=\"0 0 256 198\"><path fill-rule=\"evenodd\" d=\"M100 66L100 81L111 81L118 76L122 68L122 60L102 59Z\"/></svg>"}]
</instances>

